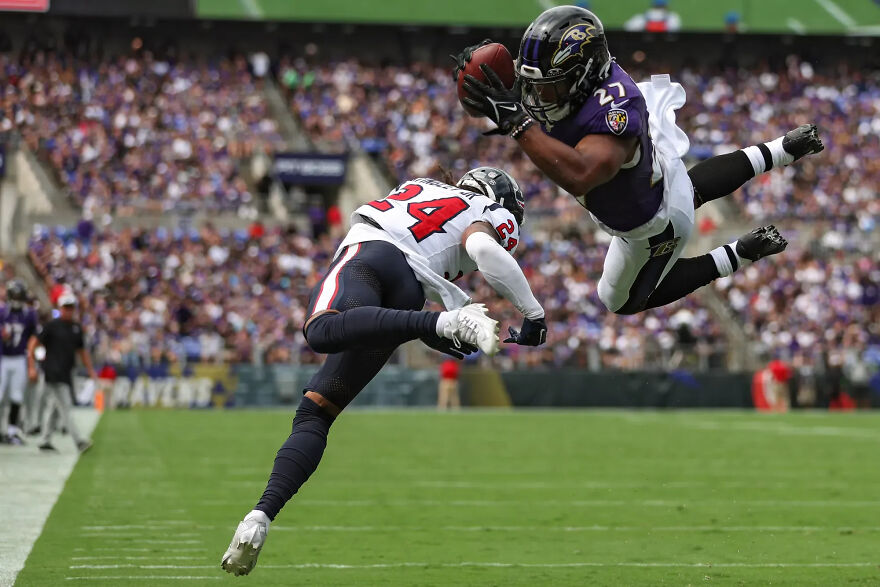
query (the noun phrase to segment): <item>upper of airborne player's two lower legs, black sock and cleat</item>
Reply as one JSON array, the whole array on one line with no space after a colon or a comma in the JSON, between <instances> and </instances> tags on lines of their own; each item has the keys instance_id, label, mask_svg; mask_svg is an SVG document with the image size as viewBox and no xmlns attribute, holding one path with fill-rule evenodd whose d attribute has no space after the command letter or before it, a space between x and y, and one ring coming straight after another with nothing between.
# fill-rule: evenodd
<instances>
[{"instance_id":1,"label":"upper of airborne player's two lower legs, black sock and cleat","mask_svg":"<svg viewBox=\"0 0 880 587\"><path fill-rule=\"evenodd\" d=\"M816 125L804 124L769 143L706 159L688 171L694 206L730 195L750 179L824 148Z\"/></svg>"}]
</instances>

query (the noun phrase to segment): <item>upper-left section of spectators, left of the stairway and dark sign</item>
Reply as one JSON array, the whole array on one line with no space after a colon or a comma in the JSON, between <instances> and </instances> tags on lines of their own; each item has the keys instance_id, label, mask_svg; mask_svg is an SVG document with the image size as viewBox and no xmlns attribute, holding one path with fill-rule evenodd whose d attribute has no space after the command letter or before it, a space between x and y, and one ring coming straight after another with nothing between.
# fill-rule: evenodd
<instances>
[{"instance_id":1,"label":"upper-left section of spectators, left of the stairway and dark sign","mask_svg":"<svg viewBox=\"0 0 880 587\"><path fill-rule=\"evenodd\" d=\"M240 160L284 144L242 57L0 55L0 86L0 130L17 129L94 218L245 212Z\"/></svg>"}]
</instances>

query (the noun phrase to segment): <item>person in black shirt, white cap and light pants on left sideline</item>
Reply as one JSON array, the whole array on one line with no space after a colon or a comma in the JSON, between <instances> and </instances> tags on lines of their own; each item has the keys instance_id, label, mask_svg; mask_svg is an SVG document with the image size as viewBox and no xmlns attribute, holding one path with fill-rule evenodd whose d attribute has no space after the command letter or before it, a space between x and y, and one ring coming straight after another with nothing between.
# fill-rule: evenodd
<instances>
[{"instance_id":1,"label":"person in black shirt, white cap and light pants on left sideline","mask_svg":"<svg viewBox=\"0 0 880 587\"><path fill-rule=\"evenodd\" d=\"M37 337L39 344L46 349L46 358L43 361L43 375L45 377L43 393L46 398L46 408L43 416L43 438L40 450L56 450L52 445L52 433L55 431L54 424L56 422L52 418L52 412L57 409L61 426L70 432L77 450L82 453L91 448L92 442L80 435L79 429L71 417L73 367L76 365L76 357L79 356L85 365L89 377L95 379L96 375L95 369L92 367L92 359L85 349L82 325L73 319L76 310L76 297L69 292L64 293L58 298L58 306L60 308L59 316L47 322ZM37 379L37 367L34 362L37 340L28 345L28 377L31 381Z\"/></svg>"}]
</instances>

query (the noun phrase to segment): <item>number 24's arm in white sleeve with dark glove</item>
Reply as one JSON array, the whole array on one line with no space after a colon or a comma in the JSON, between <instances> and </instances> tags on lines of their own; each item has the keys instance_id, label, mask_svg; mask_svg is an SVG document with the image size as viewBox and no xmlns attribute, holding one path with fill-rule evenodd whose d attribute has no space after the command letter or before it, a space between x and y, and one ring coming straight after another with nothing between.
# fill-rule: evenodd
<instances>
[{"instance_id":1,"label":"number 24's arm in white sleeve with dark glove","mask_svg":"<svg viewBox=\"0 0 880 587\"><path fill-rule=\"evenodd\" d=\"M487 222L471 224L462 235L462 244L477 269L492 289L509 300L523 317L522 330L505 342L538 346L547 339L544 308L532 293L532 288L516 260L498 241L498 235Z\"/></svg>"}]
</instances>

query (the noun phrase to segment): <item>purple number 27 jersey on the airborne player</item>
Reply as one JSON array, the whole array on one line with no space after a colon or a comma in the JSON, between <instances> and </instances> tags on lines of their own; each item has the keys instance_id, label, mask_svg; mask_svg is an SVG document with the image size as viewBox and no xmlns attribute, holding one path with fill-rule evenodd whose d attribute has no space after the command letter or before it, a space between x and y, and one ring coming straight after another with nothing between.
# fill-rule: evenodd
<instances>
[{"instance_id":1,"label":"purple number 27 jersey on the airborne player","mask_svg":"<svg viewBox=\"0 0 880 587\"><path fill-rule=\"evenodd\" d=\"M633 159L614 178L584 197L585 208L603 224L632 230L651 220L663 202L663 178L648 133L648 110L638 86L617 63L580 110L547 131L570 147L590 134L638 137Z\"/></svg>"}]
</instances>

